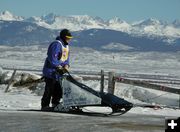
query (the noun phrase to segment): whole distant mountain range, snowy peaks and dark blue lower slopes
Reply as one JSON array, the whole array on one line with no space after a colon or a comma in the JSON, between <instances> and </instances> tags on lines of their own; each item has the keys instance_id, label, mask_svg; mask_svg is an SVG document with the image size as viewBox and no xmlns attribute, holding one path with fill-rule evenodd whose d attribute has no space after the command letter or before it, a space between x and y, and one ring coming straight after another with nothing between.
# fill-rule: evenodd
<instances>
[{"instance_id":1,"label":"whole distant mountain range, snowy peaks and dark blue lower slopes","mask_svg":"<svg viewBox=\"0 0 180 132\"><path fill-rule=\"evenodd\" d=\"M168 23L150 18L127 23L117 17L105 21L99 17L88 15L58 16L53 13L41 17L24 18L15 16L9 11L0 13L0 44L30 45L45 43L52 41L59 30L63 28L73 31L76 36L74 42L80 43L81 46L94 47L91 44L109 39L101 45L101 49L115 47L115 49L120 48L120 50L143 50L142 45L143 47L151 47L152 45L151 49L159 45L162 45L162 47L160 46L158 49L164 48L163 46L166 47L165 49L167 49L167 46L176 48L176 50L180 49L177 49L177 47L180 47L180 20ZM87 32L88 34L86 34ZM101 39L97 37L97 33ZM116 36L113 37L112 34L116 34ZM125 39L127 41L124 41ZM144 44L139 44L140 42ZM113 46L109 47L108 45ZM154 45L156 46L154 47ZM94 48L99 47L96 44Z\"/></svg>"}]
</instances>

